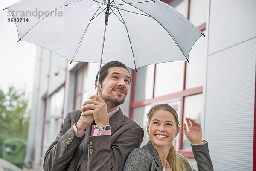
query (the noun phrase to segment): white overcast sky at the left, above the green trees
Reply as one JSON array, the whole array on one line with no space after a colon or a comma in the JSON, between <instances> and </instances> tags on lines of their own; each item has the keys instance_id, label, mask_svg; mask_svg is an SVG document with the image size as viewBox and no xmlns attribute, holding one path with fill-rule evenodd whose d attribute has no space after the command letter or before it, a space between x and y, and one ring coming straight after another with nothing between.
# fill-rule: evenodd
<instances>
[{"instance_id":1,"label":"white overcast sky at the left, above the green trees","mask_svg":"<svg viewBox=\"0 0 256 171\"><path fill-rule=\"evenodd\" d=\"M0 1L0 89L8 90L9 85L23 88L32 93L34 84L36 45L18 40L14 22L8 22L4 8L19 0Z\"/></svg>"}]
</instances>

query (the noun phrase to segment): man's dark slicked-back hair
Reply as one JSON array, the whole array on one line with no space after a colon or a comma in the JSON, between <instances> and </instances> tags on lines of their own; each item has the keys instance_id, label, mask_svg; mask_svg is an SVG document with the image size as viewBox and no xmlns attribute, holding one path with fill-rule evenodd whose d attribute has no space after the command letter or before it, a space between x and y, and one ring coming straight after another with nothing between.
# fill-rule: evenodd
<instances>
[{"instance_id":1,"label":"man's dark slicked-back hair","mask_svg":"<svg viewBox=\"0 0 256 171\"><path fill-rule=\"evenodd\" d=\"M122 62L119 62L119 61L111 61L111 62L108 62L107 64L103 65L101 67L101 70L100 70L100 76L99 76L99 83L102 84L103 80L105 79L105 77L108 75L108 68L111 68L111 67L122 67L122 68L125 68L125 70L128 71L128 68L125 66L125 64L123 64ZM128 71L128 73L130 74L130 72ZM95 79L95 82L98 81L98 75L99 75L99 71L96 75L96 79Z\"/></svg>"}]
</instances>

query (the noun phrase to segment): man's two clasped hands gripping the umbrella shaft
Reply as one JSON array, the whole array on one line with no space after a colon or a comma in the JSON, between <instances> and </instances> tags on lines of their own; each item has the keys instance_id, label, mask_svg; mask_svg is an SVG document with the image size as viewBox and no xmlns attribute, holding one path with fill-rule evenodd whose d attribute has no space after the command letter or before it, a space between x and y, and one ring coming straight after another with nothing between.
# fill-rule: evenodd
<instances>
[{"instance_id":1,"label":"man's two clasped hands gripping the umbrella shaft","mask_svg":"<svg viewBox=\"0 0 256 171\"><path fill-rule=\"evenodd\" d=\"M93 115L94 121L99 127L109 125L107 104L97 95L90 96L89 99L83 104L82 116Z\"/></svg>"}]
</instances>

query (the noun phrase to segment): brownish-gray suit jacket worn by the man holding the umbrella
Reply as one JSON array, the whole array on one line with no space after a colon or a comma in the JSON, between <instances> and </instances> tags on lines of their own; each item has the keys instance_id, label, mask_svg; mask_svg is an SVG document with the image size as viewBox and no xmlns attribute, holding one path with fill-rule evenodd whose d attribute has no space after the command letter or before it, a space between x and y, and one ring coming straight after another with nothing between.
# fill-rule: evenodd
<instances>
[{"instance_id":1,"label":"brownish-gray suit jacket worn by the man holding the umbrella","mask_svg":"<svg viewBox=\"0 0 256 171\"><path fill-rule=\"evenodd\" d=\"M140 146L143 129L119 109L109 119L111 136L90 136L90 126L80 138L73 133L80 115L80 110L67 114L45 154L44 171L122 171L128 154Z\"/></svg>"}]
</instances>

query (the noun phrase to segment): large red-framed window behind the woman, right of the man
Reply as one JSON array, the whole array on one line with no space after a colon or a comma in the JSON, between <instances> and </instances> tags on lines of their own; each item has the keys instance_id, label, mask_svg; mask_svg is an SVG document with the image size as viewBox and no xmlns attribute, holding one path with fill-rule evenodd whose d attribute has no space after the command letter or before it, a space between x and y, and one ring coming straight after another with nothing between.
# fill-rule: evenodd
<instances>
[{"instance_id":1,"label":"large red-framed window behind the woman, right of the man","mask_svg":"<svg viewBox=\"0 0 256 171\"><path fill-rule=\"evenodd\" d=\"M168 1L168 0L166 0ZM205 34L206 3L201 0L169 0L173 6L187 18L192 18L192 23ZM200 16L196 14L200 11ZM152 105L167 103L175 107L180 119L180 125L185 122L184 118L189 116L201 123L203 114L203 84L206 64L205 38L202 36L193 46L189 61L169 62L153 64L141 67L137 72L133 71L133 83L131 97L131 119L137 122L145 132L142 146L148 142L146 132L146 114ZM135 79L134 79L135 78ZM186 123L186 122L185 122ZM190 142L186 136L180 135L175 145L178 151L184 154L196 167L193 159Z\"/></svg>"}]
</instances>

